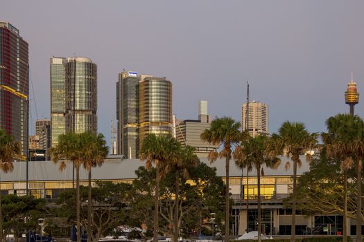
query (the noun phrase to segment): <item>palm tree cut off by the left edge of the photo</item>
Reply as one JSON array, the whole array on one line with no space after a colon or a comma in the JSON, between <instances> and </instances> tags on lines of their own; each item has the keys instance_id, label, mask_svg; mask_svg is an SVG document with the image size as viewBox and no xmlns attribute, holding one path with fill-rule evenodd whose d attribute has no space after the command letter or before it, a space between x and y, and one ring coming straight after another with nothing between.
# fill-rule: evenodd
<instances>
[{"instance_id":1,"label":"palm tree cut off by the left edge of the photo","mask_svg":"<svg viewBox=\"0 0 364 242\"><path fill-rule=\"evenodd\" d=\"M15 142L12 136L9 136L6 131L0 129L0 170L8 173L14 169L12 165L13 156L19 155L21 145ZM3 214L1 207L1 188L0 188L0 241L3 241Z\"/></svg>"}]
</instances>

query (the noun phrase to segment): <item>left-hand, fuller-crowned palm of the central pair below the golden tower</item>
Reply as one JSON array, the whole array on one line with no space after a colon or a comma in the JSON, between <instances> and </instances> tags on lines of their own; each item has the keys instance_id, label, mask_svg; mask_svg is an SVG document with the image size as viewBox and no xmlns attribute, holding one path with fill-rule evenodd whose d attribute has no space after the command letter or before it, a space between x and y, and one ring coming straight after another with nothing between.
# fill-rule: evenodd
<instances>
[{"instance_id":1,"label":"left-hand, fuller-crowned palm of the central pair below the golden tower","mask_svg":"<svg viewBox=\"0 0 364 242\"><path fill-rule=\"evenodd\" d=\"M159 227L159 182L164 176L166 161L171 162L177 159L175 155L175 142L172 136L156 136L154 133L148 134L144 138L141 148L139 150L140 160L146 160L146 168L155 165L155 211L153 221L153 241L158 241L158 227Z\"/></svg>"}]
</instances>

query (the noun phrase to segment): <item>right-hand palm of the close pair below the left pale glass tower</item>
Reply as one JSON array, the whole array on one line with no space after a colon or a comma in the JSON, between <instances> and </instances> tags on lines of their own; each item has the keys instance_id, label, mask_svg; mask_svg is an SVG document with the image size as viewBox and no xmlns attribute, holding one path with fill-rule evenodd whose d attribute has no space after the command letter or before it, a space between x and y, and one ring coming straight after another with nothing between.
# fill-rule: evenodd
<instances>
[{"instance_id":1,"label":"right-hand palm of the close pair below the left pale glass tower","mask_svg":"<svg viewBox=\"0 0 364 242\"><path fill-rule=\"evenodd\" d=\"M83 167L89 173L88 183L88 199L87 199L87 241L92 241L91 237L91 223L92 223L92 196L91 196L91 170L92 167L100 167L103 165L107 154L109 153L109 147L106 145L105 136L102 133L98 133L96 136L94 133L80 133L80 140L83 142L83 158L81 162ZM97 238L98 240L98 238Z\"/></svg>"}]
</instances>

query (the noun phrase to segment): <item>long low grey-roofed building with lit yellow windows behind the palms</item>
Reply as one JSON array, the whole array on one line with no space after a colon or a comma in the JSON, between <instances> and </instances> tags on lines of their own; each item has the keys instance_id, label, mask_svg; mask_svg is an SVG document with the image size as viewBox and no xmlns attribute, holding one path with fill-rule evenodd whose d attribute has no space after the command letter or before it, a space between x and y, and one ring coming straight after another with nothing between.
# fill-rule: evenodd
<instances>
[{"instance_id":1,"label":"long low grey-roofed building with lit yellow windows behind the palms","mask_svg":"<svg viewBox=\"0 0 364 242\"><path fill-rule=\"evenodd\" d=\"M297 175L309 171L309 164L305 156L301 157L302 166L297 168ZM210 163L206 158L200 159L211 167L216 167L217 175L225 180L225 160ZM287 158L282 158L282 164ZM144 166L145 162L138 159L123 159L123 156L109 156L101 167L92 169L92 182L96 180L110 180L114 183L130 183L137 176L135 170ZM59 165L52 161L28 162L28 189L38 198L56 198L64 189L73 187L73 170L69 162L60 171ZM291 234L291 210L283 207L283 198L291 194L293 189L293 165L286 171L284 165L278 169L264 169L265 176L261 177L262 200L262 231L264 234ZM75 175L76 176L76 175ZM14 171L4 174L0 172L1 191L3 194L26 194L26 162L14 162ZM249 179L248 179L249 177ZM87 185L88 173L80 168L80 185ZM249 185L247 185L249 181ZM235 204L232 207L232 232L243 234L249 226L250 230L257 229L257 171L251 171L248 176L246 170L241 171L231 162L229 170L229 184ZM242 193L241 193L242 191ZM243 196L241 196L243 194ZM249 194L248 212L247 198ZM247 219L247 215L248 218ZM349 225L355 227L355 221L349 220ZM307 228L328 227L329 232L343 230L343 216L296 216L296 232L303 234ZM352 232L353 233L353 232Z\"/></svg>"}]
</instances>

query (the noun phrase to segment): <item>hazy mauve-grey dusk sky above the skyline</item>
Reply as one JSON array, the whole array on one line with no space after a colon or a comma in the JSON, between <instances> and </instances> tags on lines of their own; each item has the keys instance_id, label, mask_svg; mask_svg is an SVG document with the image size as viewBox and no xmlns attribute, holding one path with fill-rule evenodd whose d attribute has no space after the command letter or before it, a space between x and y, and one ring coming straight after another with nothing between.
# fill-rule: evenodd
<instances>
[{"instance_id":1,"label":"hazy mauve-grey dusk sky above the skyline","mask_svg":"<svg viewBox=\"0 0 364 242\"><path fill-rule=\"evenodd\" d=\"M90 57L98 65L98 131L110 143L123 69L173 82L173 112L197 119L198 100L212 117L241 121L241 104L269 106L269 129L349 112L344 92L364 95L364 1L3 1L0 20L29 44L30 133L50 118L49 58ZM363 97L364 98L364 97ZM364 100L355 113L364 118Z\"/></svg>"}]
</instances>

